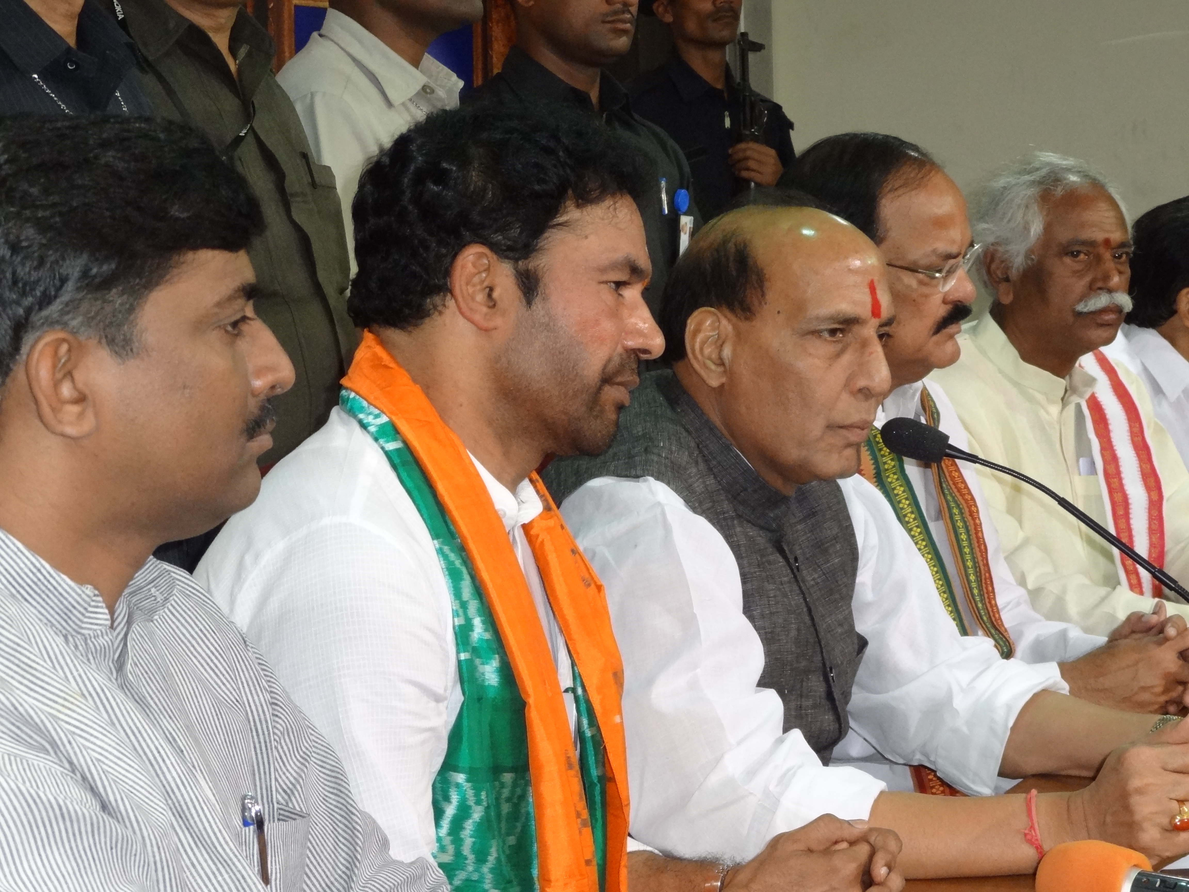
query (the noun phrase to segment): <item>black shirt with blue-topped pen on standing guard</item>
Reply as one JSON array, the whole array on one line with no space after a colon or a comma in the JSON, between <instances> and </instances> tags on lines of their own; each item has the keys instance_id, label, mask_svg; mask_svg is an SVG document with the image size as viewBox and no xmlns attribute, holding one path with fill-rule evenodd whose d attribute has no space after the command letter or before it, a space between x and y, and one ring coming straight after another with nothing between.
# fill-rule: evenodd
<instances>
[{"instance_id":1,"label":"black shirt with blue-topped pen on standing guard","mask_svg":"<svg viewBox=\"0 0 1189 892\"><path fill-rule=\"evenodd\" d=\"M690 206L685 213L693 216L694 230L702 225L702 216L693 200L690 167L685 163L681 150L660 127L633 111L628 93L606 71L599 81L598 98L598 112L606 125L638 143L655 165L656 190L652 199L640 206L648 239L648 256L653 262L653 278L644 289L644 301L655 316L668 282L668 271L677 263L680 247L681 213L674 205L678 189L685 189L690 194ZM596 111L589 93L570 86L518 46L514 46L508 54L503 70L474 90L466 101L526 105L561 102L584 111ZM661 180L665 181L663 197Z\"/></svg>"}]
</instances>

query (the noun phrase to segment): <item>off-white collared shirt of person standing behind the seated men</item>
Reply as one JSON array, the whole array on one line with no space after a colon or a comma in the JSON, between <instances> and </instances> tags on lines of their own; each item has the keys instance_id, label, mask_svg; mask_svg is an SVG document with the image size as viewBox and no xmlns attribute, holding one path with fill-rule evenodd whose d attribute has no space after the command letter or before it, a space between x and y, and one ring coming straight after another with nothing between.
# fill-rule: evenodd
<instances>
[{"instance_id":1,"label":"off-white collared shirt of person standing behind the seated men","mask_svg":"<svg viewBox=\"0 0 1189 892\"><path fill-rule=\"evenodd\" d=\"M430 113L458 108L460 81L432 56L414 68L354 19L328 10L322 30L277 75L297 109L314 158L334 171L351 270L351 202L359 174Z\"/></svg>"}]
</instances>

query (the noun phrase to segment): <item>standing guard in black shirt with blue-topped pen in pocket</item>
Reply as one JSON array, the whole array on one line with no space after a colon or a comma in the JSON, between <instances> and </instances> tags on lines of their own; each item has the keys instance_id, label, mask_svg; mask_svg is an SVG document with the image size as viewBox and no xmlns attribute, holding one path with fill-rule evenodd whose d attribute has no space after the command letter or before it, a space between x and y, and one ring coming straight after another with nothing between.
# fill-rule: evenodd
<instances>
[{"instance_id":1,"label":"standing guard in black shirt with blue-topped pen in pocket","mask_svg":"<svg viewBox=\"0 0 1189 892\"><path fill-rule=\"evenodd\" d=\"M602 114L609 127L635 139L655 163L656 187L640 215L653 278L644 300L655 316L668 271L702 225L690 165L677 144L637 115L627 90L603 67L631 49L636 2L536 0L512 4L516 45L499 74L464 101L561 103Z\"/></svg>"}]
</instances>

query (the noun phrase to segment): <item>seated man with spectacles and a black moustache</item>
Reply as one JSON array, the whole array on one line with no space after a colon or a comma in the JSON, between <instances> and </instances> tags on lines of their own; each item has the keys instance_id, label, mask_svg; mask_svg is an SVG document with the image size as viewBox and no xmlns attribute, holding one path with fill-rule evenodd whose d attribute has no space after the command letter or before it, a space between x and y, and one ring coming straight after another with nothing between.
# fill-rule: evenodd
<instances>
[{"instance_id":1,"label":"seated man with spectacles and a black moustache","mask_svg":"<svg viewBox=\"0 0 1189 892\"><path fill-rule=\"evenodd\" d=\"M957 335L975 299L968 269L977 252L961 190L920 146L880 133L828 137L801 155L791 176L831 211L860 226L891 268L895 322L883 343L892 392L876 426L907 416L942 428L965 447L967 434L945 392L924 382L958 359ZM1063 678L1070 693L1131 711L1181 711L1189 665L1184 622L1163 623L1163 609L1135 614L1112 640L1040 616L1004 560L999 535L973 467L946 460L938 471L891 453L873 429L861 473L883 494L929 565L946 613L964 635L989 637L1004 658ZM962 544L962 545L958 545ZM1160 628L1165 626L1165 628ZM869 761L870 747L851 736L841 759ZM864 766L868 767L868 766ZM889 783L907 786L905 766L887 766ZM880 771L881 777L883 771ZM914 769L918 792L946 790L932 772ZM911 789L911 787L910 787Z\"/></svg>"}]
</instances>

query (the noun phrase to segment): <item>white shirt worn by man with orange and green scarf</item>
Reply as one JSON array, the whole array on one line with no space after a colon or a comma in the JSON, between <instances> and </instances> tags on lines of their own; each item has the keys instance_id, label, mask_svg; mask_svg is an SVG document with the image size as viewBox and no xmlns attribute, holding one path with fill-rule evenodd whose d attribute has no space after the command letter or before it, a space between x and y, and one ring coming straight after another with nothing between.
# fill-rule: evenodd
<instances>
[{"instance_id":1,"label":"white shirt worn by man with orange and green scarf","mask_svg":"<svg viewBox=\"0 0 1189 892\"><path fill-rule=\"evenodd\" d=\"M476 463L541 615L562 690L570 653L522 523L541 511ZM264 478L195 571L342 759L394 856L429 858L430 786L463 703L446 578L383 451L341 409ZM566 695L573 728L573 701Z\"/></svg>"}]
</instances>

